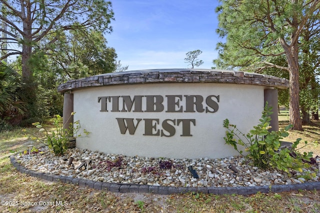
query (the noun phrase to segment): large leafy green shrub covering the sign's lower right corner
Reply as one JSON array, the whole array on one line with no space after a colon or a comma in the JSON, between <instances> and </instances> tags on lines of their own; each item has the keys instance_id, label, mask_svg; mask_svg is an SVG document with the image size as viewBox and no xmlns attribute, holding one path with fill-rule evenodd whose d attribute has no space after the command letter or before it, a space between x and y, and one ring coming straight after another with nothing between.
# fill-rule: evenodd
<instances>
[{"instance_id":1,"label":"large leafy green shrub covering the sign's lower right corner","mask_svg":"<svg viewBox=\"0 0 320 213\"><path fill-rule=\"evenodd\" d=\"M303 161L310 161L313 153L304 152L301 154L297 151L300 138L296 139L290 149L279 150L280 140L289 135L287 131L291 125L279 131L268 131L271 128L269 126L271 114L271 107L266 103L261 119L259 119L260 123L246 135L235 125L229 124L228 119L225 119L223 121L223 127L227 129L226 137L224 137L225 143L233 146L241 155L243 152L238 149L238 146L244 147L244 151L248 152L247 157L252 160L253 165L261 169L272 167L288 173L288 169L291 168L302 172L302 168L309 167L309 164L303 163Z\"/></svg>"}]
</instances>

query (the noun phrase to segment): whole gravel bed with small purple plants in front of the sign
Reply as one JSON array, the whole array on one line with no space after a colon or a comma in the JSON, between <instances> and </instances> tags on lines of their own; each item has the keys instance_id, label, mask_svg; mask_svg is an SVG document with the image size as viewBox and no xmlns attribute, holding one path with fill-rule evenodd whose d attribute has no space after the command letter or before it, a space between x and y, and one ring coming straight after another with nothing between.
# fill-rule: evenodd
<instances>
[{"instance_id":1,"label":"whole gravel bed with small purple plants in front of the sign","mask_svg":"<svg viewBox=\"0 0 320 213\"><path fill-rule=\"evenodd\" d=\"M289 177L282 171L260 170L250 166L246 158L239 156L224 159L166 159L128 157L74 148L67 150L64 156L56 157L48 147L41 147L38 153L22 153L14 157L22 166L36 172L107 183L168 187L254 187L319 181L318 176L310 180L304 176L310 173L319 175L316 166L304 169L302 173L291 171ZM73 161L69 165L70 157ZM188 167L195 171L198 178L193 177L195 174L192 175Z\"/></svg>"}]
</instances>

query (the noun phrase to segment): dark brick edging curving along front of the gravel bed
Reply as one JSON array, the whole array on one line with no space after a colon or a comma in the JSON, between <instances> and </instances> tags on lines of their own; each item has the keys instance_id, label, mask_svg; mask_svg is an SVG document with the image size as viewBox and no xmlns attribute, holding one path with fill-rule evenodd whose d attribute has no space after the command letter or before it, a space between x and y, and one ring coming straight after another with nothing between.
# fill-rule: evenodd
<instances>
[{"instance_id":1,"label":"dark brick edging curving along front of the gravel bed","mask_svg":"<svg viewBox=\"0 0 320 213\"><path fill-rule=\"evenodd\" d=\"M306 182L303 184L290 184L290 185L272 185L272 186L255 186L255 187L163 187L163 186L149 186L137 184L118 184L118 183L105 183L100 181L84 180L79 178L71 178L67 176L57 176L46 173L38 173L34 170L27 169L20 165L14 158L10 156L11 164L21 173L37 177L47 181L61 182L66 184L75 184L82 187L89 187L96 190L104 190L117 193L151 193L158 195L170 194L184 194L188 192L201 192L204 194L215 195L252 195L257 192L261 193L280 193L290 192L297 190L320 190L320 182Z\"/></svg>"}]
</instances>

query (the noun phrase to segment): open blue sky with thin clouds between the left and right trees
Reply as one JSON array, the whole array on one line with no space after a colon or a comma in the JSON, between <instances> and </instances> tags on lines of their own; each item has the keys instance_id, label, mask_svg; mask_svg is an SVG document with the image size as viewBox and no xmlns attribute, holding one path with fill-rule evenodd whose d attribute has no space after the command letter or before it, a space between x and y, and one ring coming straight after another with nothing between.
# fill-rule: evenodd
<instances>
[{"instance_id":1,"label":"open blue sky with thin clouds between the left and right trees","mask_svg":"<svg viewBox=\"0 0 320 213\"><path fill-rule=\"evenodd\" d=\"M112 0L115 21L106 34L128 70L187 68L185 53L199 49L210 69L217 58L218 0Z\"/></svg>"}]
</instances>

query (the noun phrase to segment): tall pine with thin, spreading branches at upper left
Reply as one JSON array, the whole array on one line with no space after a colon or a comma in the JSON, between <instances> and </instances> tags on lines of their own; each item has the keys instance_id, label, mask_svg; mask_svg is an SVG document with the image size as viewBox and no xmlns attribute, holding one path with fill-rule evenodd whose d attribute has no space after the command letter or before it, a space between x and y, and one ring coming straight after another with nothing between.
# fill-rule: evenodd
<instances>
[{"instance_id":1,"label":"tall pine with thin, spreading branches at upper left","mask_svg":"<svg viewBox=\"0 0 320 213\"><path fill-rule=\"evenodd\" d=\"M32 58L38 51L46 52L63 32L68 30L93 29L111 32L113 19L111 2L105 0L0 0L0 20L6 24L1 28L7 37L6 52L0 60L10 55L20 55L22 83L28 104L35 99L32 78ZM17 46L17 47L16 47Z\"/></svg>"}]
</instances>

